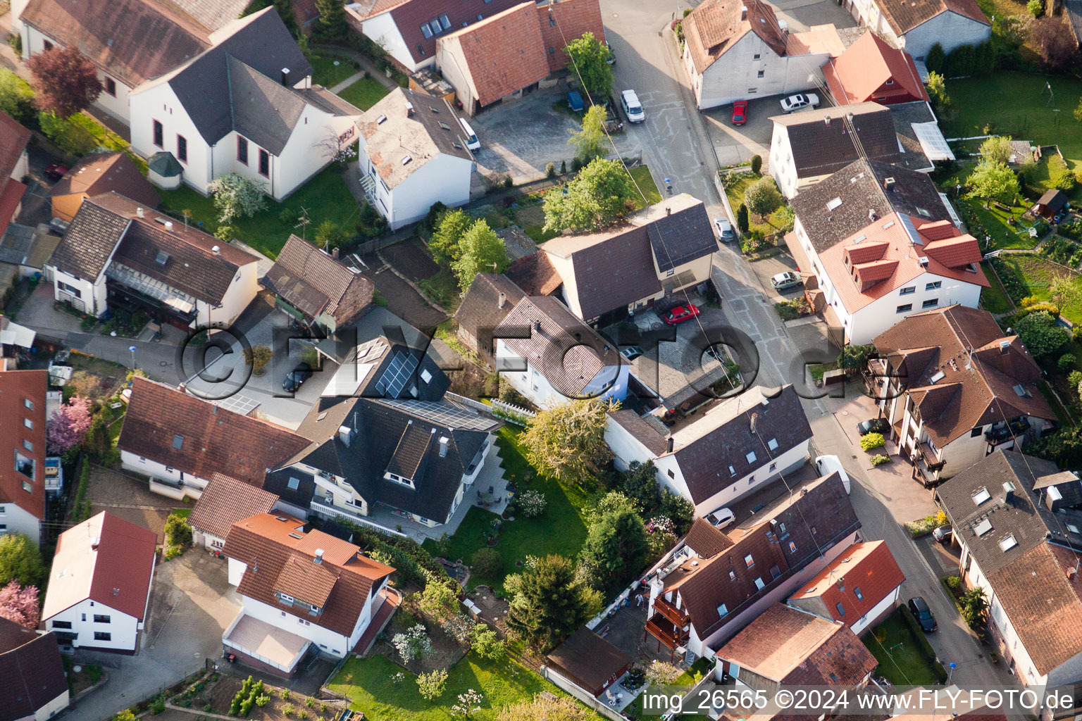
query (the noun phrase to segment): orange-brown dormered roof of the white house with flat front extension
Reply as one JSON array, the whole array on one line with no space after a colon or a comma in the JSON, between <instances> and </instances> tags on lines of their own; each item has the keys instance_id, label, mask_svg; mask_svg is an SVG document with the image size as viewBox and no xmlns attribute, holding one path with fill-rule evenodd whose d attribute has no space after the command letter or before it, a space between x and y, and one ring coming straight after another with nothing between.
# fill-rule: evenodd
<instances>
[{"instance_id":1,"label":"orange-brown dormered roof of the white house with flat front extension","mask_svg":"<svg viewBox=\"0 0 1082 721\"><path fill-rule=\"evenodd\" d=\"M248 565L237 592L349 636L372 586L394 569L321 531L299 531L303 524L295 518L270 513L234 523L222 552ZM316 563L316 548L325 551L321 563ZM306 607L287 605L275 596L276 590L322 611L314 616Z\"/></svg>"}]
</instances>

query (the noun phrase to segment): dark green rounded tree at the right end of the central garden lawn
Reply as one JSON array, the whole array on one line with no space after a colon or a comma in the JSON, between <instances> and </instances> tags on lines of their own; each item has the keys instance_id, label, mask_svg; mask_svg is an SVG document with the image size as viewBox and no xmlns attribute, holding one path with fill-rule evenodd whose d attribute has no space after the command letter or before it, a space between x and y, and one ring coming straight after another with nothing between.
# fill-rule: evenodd
<instances>
[{"instance_id":1,"label":"dark green rounded tree at the right end of the central garden lawn","mask_svg":"<svg viewBox=\"0 0 1082 721\"><path fill-rule=\"evenodd\" d=\"M646 562L643 519L630 510L605 513L590 526L579 558L591 569L601 589L615 590Z\"/></svg>"}]
</instances>

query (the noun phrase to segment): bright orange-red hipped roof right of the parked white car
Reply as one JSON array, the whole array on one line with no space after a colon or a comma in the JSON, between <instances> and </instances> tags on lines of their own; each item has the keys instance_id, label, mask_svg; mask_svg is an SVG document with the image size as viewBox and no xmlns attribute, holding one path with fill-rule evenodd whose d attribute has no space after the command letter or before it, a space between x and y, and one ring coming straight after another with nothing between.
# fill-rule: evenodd
<instances>
[{"instance_id":1,"label":"bright orange-red hipped roof right of the parked white car","mask_svg":"<svg viewBox=\"0 0 1082 721\"><path fill-rule=\"evenodd\" d=\"M839 57L829 59L822 72L840 105L929 99L910 54L892 48L874 32L863 34Z\"/></svg>"}]
</instances>

